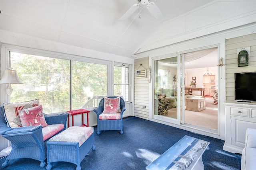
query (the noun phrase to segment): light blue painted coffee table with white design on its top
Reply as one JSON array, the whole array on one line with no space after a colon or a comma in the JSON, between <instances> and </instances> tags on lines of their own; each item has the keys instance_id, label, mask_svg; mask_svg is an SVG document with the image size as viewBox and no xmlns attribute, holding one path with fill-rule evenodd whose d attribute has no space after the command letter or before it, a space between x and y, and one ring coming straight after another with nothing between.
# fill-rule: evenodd
<instances>
[{"instance_id":1,"label":"light blue painted coffee table with white design on its top","mask_svg":"<svg viewBox=\"0 0 256 170\"><path fill-rule=\"evenodd\" d=\"M146 170L204 170L202 154L209 142L185 135L146 167Z\"/></svg>"}]
</instances>

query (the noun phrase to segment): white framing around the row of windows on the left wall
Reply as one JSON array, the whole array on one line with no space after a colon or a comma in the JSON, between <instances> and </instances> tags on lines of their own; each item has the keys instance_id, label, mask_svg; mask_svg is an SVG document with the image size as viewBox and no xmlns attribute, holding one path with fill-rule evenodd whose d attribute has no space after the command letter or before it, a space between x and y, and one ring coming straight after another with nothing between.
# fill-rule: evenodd
<instances>
[{"instance_id":1,"label":"white framing around the row of windows on the left wall","mask_svg":"<svg viewBox=\"0 0 256 170\"><path fill-rule=\"evenodd\" d=\"M10 51L12 52L16 52L16 53L24 53L24 54L29 54L29 55L38 55L38 56L42 56L42 57L51 57L51 58L56 58L56 59L65 59L65 60L69 60L70 62L72 61L80 61L80 62L86 62L86 63L95 63L95 64L104 64L107 65L107 72L108 72L108 77L107 77L107 96L113 96L114 95L114 66L124 66L122 65L122 63L115 63L114 61L107 61L107 60L102 60L102 59L93 59L90 57L84 57L84 56L80 56L80 55L71 55L71 54L66 54L66 53L60 53L60 52L53 52L53 51L46 51L46 50L41 50L41 49L33 49L33 48L28 48L28 47L20 47L20 46L16 46L16 45L7 45L7 44L2 44L1 47L1 62L0 62L0 66L1 66L1 77L2 74L4 72L4 70L8 70L8 68L10 67L11 63L10 63ZM70 69L72 70L72 64L70 65ZM131 73L131 69L130 69L130 64L129 64L129 80L130 80L130 73ZM70 72L72 73L72 72ZM10 96L8 96L6 94L6 87L8 86L8 84L6 85L2 85L1 87L1 92L3 92L2 94L0 94L0 100L1 103L3 102L10 102ZM72 96L72 80L70 81L70 98ZM129 86L129 92L128 92L128 98L130 101L130 97L131 97L131 87ZM72 99L70 99L70 108L72 106ZM92 110L96 107L90 107L87 108L88 110Z\"/></svg>"}]
</instances>

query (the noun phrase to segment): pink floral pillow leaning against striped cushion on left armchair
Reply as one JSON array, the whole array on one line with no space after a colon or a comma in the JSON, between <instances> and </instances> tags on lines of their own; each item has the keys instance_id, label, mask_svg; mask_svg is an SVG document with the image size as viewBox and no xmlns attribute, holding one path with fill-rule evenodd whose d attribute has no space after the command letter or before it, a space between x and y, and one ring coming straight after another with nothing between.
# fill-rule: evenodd
<instances>
[{"instance_id":1,"label":"pink floral pillow leaning against striped cushion on left armchair","mask_svg":"<svg viewBox=\"0 0 256 170\"><path fill-rule=\"evenodd\" d=\"M42 105L19 110L19 115L22 127L37 125L42 125L42 127L48 126L44 119Z\"/></svg>"}]
</instances>

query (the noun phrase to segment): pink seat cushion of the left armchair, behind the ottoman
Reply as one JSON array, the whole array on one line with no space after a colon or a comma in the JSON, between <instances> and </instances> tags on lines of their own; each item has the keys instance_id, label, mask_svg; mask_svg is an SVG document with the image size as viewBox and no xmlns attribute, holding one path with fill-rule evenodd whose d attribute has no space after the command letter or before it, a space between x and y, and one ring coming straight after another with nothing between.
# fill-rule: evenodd
<instances>
[{"instance_id":1,"label":"pink seat cushion of the left armchair, behind the ottoman","mask_svg":"<svg viewBox=\"0 0 256 170\"><path fill-rule=\"evenodd\" d=\"M43 140L47 140L64 129L64 124L48 125L42 128Z\"/></svg>"}]
</instances>

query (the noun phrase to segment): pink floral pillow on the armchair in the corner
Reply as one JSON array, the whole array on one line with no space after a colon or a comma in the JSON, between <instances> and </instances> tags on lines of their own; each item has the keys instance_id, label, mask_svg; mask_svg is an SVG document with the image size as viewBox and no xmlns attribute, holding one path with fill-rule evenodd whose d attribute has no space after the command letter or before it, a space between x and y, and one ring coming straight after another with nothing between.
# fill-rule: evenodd
<instances>
[{"instance_id":1,"label":"pink floral pillow on the armchair in the corner","mask_svg":"<svg viewBox=\"0 0 256 170\"><path fill-rule=\"evenodd\" d=\"M114 99L105 97L104 100L104 110L102 113L118 113L120 97Z\"/></svg>"}]
</instances>

